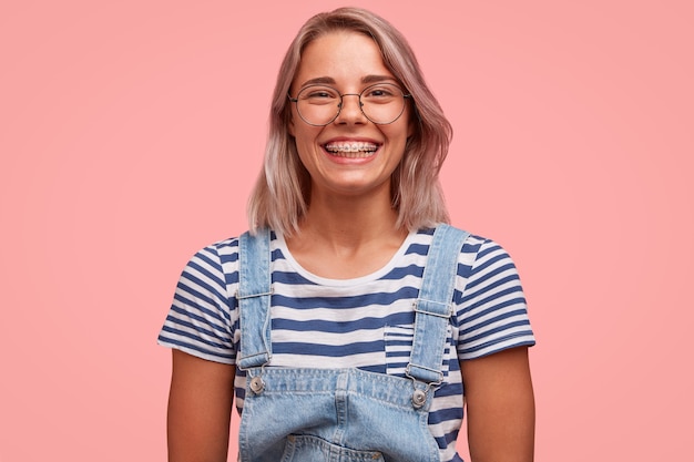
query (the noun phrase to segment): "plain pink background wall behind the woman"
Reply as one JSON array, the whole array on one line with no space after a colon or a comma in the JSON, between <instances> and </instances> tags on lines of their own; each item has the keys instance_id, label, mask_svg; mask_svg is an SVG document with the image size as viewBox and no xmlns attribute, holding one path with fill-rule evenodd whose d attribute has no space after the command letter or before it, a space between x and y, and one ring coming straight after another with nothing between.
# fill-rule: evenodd
<instances>
[{"instance_id":1,"label":"plain pink background wall behind the woman","mask_svg":"<svg viewBox=\"0 0 694 462\"><path fill-rule=\"evenodd\" d=\"M1 462L165 460L178 274L245 229L280 57L341 2L233 3L0 6ZM368 3L456 127L455 224L521 270L537 460L688 459L692 3Z\"/></svg>"}]
</instances>

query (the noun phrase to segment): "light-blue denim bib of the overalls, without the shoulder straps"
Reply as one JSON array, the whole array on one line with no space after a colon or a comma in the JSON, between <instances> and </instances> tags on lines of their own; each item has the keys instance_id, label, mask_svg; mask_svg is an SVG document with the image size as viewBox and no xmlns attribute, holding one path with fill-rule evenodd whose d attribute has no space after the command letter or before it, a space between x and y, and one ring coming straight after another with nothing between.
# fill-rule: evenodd
<instances>
[{"instance_id":1,"label":"light-blue denim bib of the overalls, without the shoulder straps","mask_svg":"<svg viewBox=\"0 0 694 462\"><path fill-rule=\"evenodd\" d=\"M427 425L431 400L414 409L411 380L358 369L248 372L249 380L262 373L265 389L246 394L244 462L439 462Z\"/></svg>"}]
</instances>

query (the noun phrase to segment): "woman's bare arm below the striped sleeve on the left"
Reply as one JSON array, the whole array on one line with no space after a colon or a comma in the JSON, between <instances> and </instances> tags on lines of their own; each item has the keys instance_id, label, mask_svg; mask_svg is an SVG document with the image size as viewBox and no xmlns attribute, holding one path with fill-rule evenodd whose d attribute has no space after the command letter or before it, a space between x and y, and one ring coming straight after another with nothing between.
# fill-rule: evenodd
<instances>
[{"instance_id":1,"label":"woman's bare arm below the striped sleeve on the left","mask_svg":"<svg viewBox=\"0 0 694 462\"><path fill-rule=\"evenodd\" d=\"M170 462L226 462L235 367L173 350Z\"/></svg>"}]
</instances>

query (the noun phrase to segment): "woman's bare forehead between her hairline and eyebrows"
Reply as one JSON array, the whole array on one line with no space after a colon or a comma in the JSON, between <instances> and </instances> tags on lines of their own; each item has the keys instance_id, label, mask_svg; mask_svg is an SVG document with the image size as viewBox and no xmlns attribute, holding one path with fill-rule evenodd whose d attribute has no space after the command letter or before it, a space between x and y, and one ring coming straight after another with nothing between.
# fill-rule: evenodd
<instances>
[{"instance_id":1,"label":"woman's bare forehead between her hairline and eyebrows","mask_svg":"<svg viewBox=\"0 0 694 462\"><path fill-rule=\"evenodd\" d=\"M374 39L358 32L336 31L306 45L293 86L300 88L316 79L351 85L369 75L394 79Z\"/></svg>"}]
</instances>

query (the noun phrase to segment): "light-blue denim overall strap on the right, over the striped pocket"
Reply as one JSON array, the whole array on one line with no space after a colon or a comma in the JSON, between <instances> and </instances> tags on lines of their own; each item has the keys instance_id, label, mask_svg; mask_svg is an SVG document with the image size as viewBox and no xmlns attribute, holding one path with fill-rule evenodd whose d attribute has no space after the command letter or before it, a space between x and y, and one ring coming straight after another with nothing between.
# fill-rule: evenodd
<instances>
[{"instance_id":1,"label":"light-blue denim overall strap on the right, over the striped pocket","mask_svg":"<svg viewBox=\"0 0 694 462\"><path fill-rule=\"evenodd\" d=\"M427 384L443 380L443 350L458 274L458 257L470 234L450 225L437 226L427 256L419 297L415 302L415 339L407 377Z\"/></svg>"}]
</instances>

